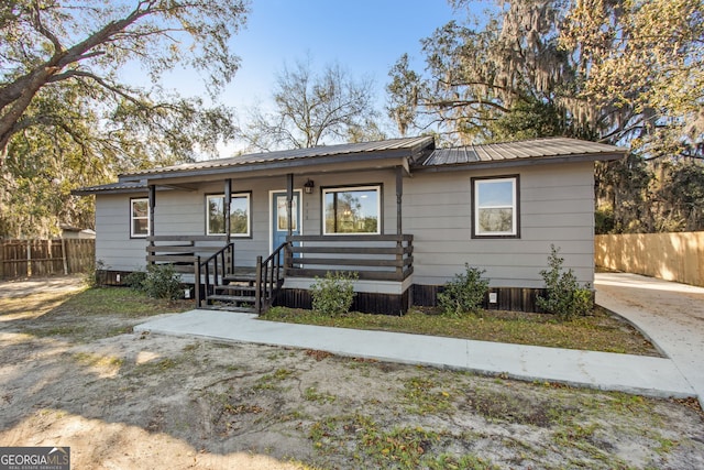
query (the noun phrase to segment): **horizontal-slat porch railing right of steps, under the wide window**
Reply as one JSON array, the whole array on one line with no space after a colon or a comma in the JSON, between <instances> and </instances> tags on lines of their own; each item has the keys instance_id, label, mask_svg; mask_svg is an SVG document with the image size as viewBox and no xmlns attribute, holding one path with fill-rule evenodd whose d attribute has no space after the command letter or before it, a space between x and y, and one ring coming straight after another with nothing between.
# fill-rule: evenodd
<instances>
[{"instance_id":1,"label":"horizontal-slat porch railing right of steps, under the wide window","mask_svg":"<svg viewBox=\"0 0 704 470\"><path fill-rule=\"evenodd\" d=\"M356 272L365 281L404 281L414 272L413 234L290 236L286 276Z\"/></svg>"}]
</instances>

